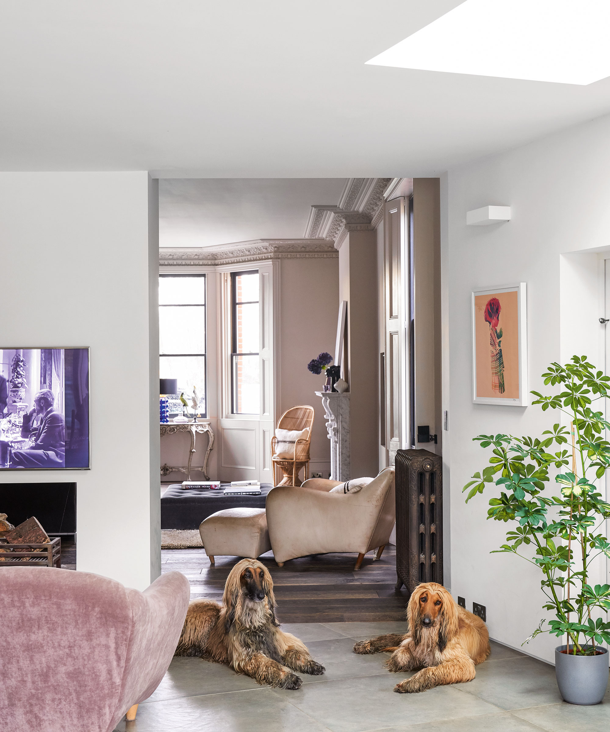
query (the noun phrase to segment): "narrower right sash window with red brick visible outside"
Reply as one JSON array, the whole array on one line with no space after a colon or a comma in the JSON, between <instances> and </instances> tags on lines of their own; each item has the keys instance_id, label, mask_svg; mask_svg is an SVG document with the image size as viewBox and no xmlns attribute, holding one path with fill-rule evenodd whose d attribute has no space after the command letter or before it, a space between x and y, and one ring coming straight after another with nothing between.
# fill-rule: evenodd
<instances>
[{"instance_id":1,"label":"narrower right sash window with red brick visible outside","mask_svg":"<svg viewBox=\"0 0 610 732\"><path fill-rule=\"evenodd\" d=\"M231 411L259 414L258 270L231 274Z\"/></svg>"}]
</instances>

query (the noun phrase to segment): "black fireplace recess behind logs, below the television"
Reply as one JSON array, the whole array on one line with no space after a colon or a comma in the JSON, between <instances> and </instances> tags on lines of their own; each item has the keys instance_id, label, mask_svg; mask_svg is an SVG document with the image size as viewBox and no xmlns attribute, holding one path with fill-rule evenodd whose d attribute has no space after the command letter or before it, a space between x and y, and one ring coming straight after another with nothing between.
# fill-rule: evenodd
<instances>
[{"instance_id":1,"label":"black fireplace recess behind logs, below the television","mask_svg":"<svg viewBox=\"0 0 610 732\"><path fill-rule=\"evenodd\" d=\"M62 567L76 569L76 483L0 483L0 513L18 526L32 516L62 539Z\"/></svg>"}]
</instances>

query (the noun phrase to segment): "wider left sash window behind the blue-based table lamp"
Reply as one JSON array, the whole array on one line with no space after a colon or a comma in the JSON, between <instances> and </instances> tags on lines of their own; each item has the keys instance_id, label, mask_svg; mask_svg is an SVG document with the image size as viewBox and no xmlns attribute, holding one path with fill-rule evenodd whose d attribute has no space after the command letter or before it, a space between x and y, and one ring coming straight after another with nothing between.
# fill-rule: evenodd
<instances>
[{"instance_id":1,"label":"wider left sash window behind the blue-based table lamp","mask_svg":"<svg viewBox=\"0 0 610 732\"><path fill-rule=\"evenodd\" d=\"M178 380L170 414L182 414L181 392L190 407L196 390L198 414L207 417L205 275L159 277L159 373Z\"/></svg>"}]
</instances>

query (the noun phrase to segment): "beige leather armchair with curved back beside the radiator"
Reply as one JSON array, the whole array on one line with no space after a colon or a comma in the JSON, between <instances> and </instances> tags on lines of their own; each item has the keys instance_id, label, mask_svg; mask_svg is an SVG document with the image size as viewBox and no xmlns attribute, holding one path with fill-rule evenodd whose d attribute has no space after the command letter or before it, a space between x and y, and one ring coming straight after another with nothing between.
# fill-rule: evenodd
<instances>
[{"instance_id":1,"label":"beige leather armchair with curved back beside the radiator","mask_svg":"<svg viewBox=\"0 0 610 732\"><path fill-rule=\"evenodd\" d=\"M382 556L395 523L394 468L384 468L358 493L328 493L337 481L313 478L300 488L278 487L267 496L267 526L275 561L309 554L354 552Z\"/></svg>"}]
</instances>

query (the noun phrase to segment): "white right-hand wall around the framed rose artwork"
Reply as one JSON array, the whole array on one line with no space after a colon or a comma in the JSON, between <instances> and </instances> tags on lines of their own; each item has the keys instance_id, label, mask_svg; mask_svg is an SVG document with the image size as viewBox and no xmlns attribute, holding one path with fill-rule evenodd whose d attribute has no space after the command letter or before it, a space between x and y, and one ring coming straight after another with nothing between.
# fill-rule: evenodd
<instances>
[{"instance_id":1,"label":"white right-hand wall around the framed rose artwork","mask_svg":"<svg viewBox=\"0 0 610 732\"><path fill-rule=\"evenodd\" d=\"M517 648L550 614L542 608L540 572L517 557L489 553L504 543L511 527L486 521L492 490L466 506L461 488L487 464L486 451L472 437L492 432L537 436L559 419L538 406L472 403L470 291L527 283L529 389L552 393L540 374L549 362L565 360L575 351L603 367L598 257L565 255L608 246L609 200L609 117L456 168L442 180L451 590L466 598L468 608L473 601L486 605L492 638ZM510 223L466 227L466 211L487 204L511 206ZM605 567L598 569L597 581L604 581ZM543 635L524 650L551 661L558 642Z\"/></svg>"}]
</instances>

